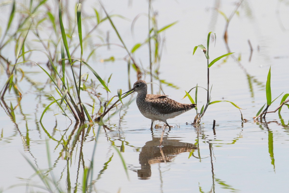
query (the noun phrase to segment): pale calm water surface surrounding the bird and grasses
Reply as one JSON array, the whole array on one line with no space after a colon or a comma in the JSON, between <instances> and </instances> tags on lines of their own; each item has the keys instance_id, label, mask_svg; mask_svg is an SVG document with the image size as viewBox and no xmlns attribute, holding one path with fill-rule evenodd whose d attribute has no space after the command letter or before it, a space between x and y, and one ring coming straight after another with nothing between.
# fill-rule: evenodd
<instances>
[{"instance_id":1,"label":"pale calm water surface surrounding the bird and grasses","mask_svg":"<svg viewBox=\"0 0 289 193\"><path fill-rule=\"evenodd\" d=\"M115 17L113 21L129 49L145 41L147 1L103 3L110 14L126 18ZM20 7L20 4L16 5ZM61 115L58 106L51 106L40 124L42 111L51 102L50 94L55 97L58 94L53 85L46 85L40 90L47 81L46 75L38 66L26 63L21 65L21 69L31 75L30 80L19 81L23 94L20 104L17 106L13 92L7 93L5 101L1 102L0 192L48 192L25 157L49 179L55 179L63 192L75 189L81 192L84 168L90 166L92 160L93 192L286 192L289 173L288 108L284 106L280 115L267 114L262 122L254 121L253 117L266 103L265 85L270 66L272 98L282 92L282 96L289 93L289 23L285 19L289 17L289 6L282 1L242 1L238 14L229 23L227 46L223 39L226 21L216 9L229 17L236 8L236 1L157 0L152 6L157 13L159 28L178 21L164 35L160 79L177 85L179 89L163 85L164 93L174 100L189 103L188 98L181 100L185 90L196 84L206 87L207 61L199 49L194 56L192 52L194 46L206 45L207 34L213 31L217 41L215 46L210 44L211 60L228 53L227 46L240 60L236 62L228 57L226 62L219 61L210 68L212 100L234 102L244 109L242 114L248 121L242 124L240 111L227 102L221 102L210 105L202 124L194 127L190 122L194 119L195 110L191 110L168 120L174 128L166 130L162 151L158 147L162 128L151 132L150 120L140 114L135 101L106 122L110 129L97 124L71 124ZM87 15L94 14L93 7L101 10L94 1L82 4ZM71 14L74 14L73 9L74 4L71 5ZM2 6L1 10L9 14L11 6ZM101 14L104 16L103 11ZM138 14L133 35L131 24ZM4 14L0 17L1 26L6 26L7 19ZM48 36L43 31L43 36ZM93 34L95 42L86 45L84 58L90 53L90 46L103 43L96 37L105 39L107 31L110 43L120 44L110 24L105 22ZM29 38L30 46L40 49L32 34ZM253 48L251 60L248 40ZM1 55L13 60L14 49L13 44L8 45L1 50ZM101 62L111 56L116 61ZM117 89L129 89L129 78L132 83L136 81L134 71L130 77L127 75L125 56L125 50L118 46L111 46L109 50L100 47L95 57L89 60L103 79L107 80L112 73L109 85L112 93L109 97L116 95ZM35 53L30 60L42 65L47 62L43 57ZM134 57L144 69L149 69L147 46L138 50ZM83 72L89 70L84 69ZM2 65L0 73L2 89L7 81ZM20 73L18 76L21 76ZM143 78L149 82L149 76ZM157 90L155 85L154 92ZM85 94L83 97L83 101L92 103L91 98ZM106 94L103 97L106 98ZM124 101L134 100L135 97L134 94ZM270 111L279 106L281 97L272 104ZM205 102L206 92L199 88L199 109ZM5 105L10 107L11 104L15 108L15 121L10 118L12 112L5 108ZM89 111L91 113L91 109ZM216 120L215 134L213 120ZM94 148L95 155L92 157ZM121 152L127 171L116 149ZM55 185L50 184L55 190Z\"/></svg>"}]
</instances>

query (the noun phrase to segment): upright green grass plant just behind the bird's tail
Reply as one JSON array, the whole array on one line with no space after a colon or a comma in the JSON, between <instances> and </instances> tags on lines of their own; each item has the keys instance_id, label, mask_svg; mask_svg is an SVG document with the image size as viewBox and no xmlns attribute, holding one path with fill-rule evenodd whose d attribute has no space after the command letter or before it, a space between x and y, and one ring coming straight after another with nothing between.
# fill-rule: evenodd
<instances>
[{"instance_id":1,"label":"upright green grass plant just behind the bird's tail","mask_svg":"<svg viewBox=\"0 0 289 193\"><path fill-rule=\"evenodd\" d=\"M208 108L208 106L209 106L210 104L214 104L214 103L218 103L218 102L229 102L229 103L231 103L233 106L235 106L236 108L241 109L240 107L238 107L238 106L237 106L236 104L234 104L233 102L227 101L227 100L218 100L218 101L212 101L212 102L211 102L212 86L211 86L211 89L210 89L210 91L209 91L209 86L210 86L210 67L211 67L212 65L214 65L214 63L216 63L218 60L220 60L220 59L222 59L222 58L224 58L224 57L226 57L226 56L229 56L230 54L233 54L233 53L234 53L234 52L231 52L231 53L224 54L224 55L222 55L222 56L219 56L218 58L215 58L214 60L212 60L212 61L209 63L209 59L210 59L210 57L209 57L209 45L210 45L210 36L211 36L211 33L213 33L213 32L209 32L209 33L208 33L207 49L206 49L205 46L203 46L203 45L198 45L198 46L195 46L195 47L194 47L194 52L193 52L193 55L194 55L194 53L196 52L196 50L197 50L198 48L201 48L201 50L204 52L205 57L206 57L206 59L207 59L207 89L201 87L201 88L203 88L203 89L205 89L205 90L207 91L207 103L206 103L206 105L203 105L203 106L202 106L200 113L198 113L198 109L197 109L197 107L195 107L195 109L196 109L196 111L197 111L197 115L196 115L196 117L194 118L193 124L199 124L199 123L201 122L201 118L202 118L203 115L205 114L205 111L207 110L207 108ZM214 33L214 35L215 35L215 43L216 43L216 34ZM198 87L199 87L199 86L198 86L198 84L197 84L196 87L190 89L188 92L185 91L185 92L186 92L186 95L184 96L184 98L188 96L188 98L190 99L190 101L191 101L192 104L197 104ZM195 91L195 101L192 99L192 97L191 97L190 94L189 94L190 91L192 91L193 89L196 89L196 91ZM242 113L241 113L241 115L242 115ZM243 119L242 119L242 121L243 121Z\"/></svg>"}]
</instances>

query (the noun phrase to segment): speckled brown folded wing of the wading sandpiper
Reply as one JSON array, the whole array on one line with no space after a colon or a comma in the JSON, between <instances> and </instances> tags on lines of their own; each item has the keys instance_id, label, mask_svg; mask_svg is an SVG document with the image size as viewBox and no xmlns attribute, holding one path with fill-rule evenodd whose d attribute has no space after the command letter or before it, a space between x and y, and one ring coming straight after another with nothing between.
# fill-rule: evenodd
<instances>
[{"instance_id":1,"label":"speckled brown folded wing of the wading sandpiper","mask_svg":"<svg viewBox=\"0 0 289 193\"><path fill-rule=\"evenodd\" d=\"M147 99L153 108L164 114L187 111L195 107L194 104L182 104L174 101L166 95L147 95Z\"/></svg>"}]
</instances>

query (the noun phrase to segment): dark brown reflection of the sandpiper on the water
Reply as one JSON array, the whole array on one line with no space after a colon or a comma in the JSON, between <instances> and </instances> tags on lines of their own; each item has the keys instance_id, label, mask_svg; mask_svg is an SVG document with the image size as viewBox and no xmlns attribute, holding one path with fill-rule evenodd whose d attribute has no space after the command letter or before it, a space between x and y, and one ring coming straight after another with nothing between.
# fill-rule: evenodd
<instances>
[{"instance_id":1,"label":"dark brown reflection of the sandpiper on the water","mask_svg":"<svg viewBox=\"0 0 289 193\"><path fill-rule=\"evenodd\" d=\"M141 169L137 170L139 179L149 179L151 177L151 164L170 162L173 157L180 153L198 149L194 144L184 143L177 139L167 139L167 137L164 137L161 148L159 145L160 138L153 137L152 141L147 141L142 147L139 155Z\"/></svg>"}]
</instances>

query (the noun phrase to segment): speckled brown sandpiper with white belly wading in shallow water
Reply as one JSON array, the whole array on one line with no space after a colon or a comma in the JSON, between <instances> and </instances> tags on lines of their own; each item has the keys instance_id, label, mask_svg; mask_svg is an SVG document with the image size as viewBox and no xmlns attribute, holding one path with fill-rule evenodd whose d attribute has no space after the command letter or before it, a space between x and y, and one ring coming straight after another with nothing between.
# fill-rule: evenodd
<instances>
[{"instance_id":1,"label":"speckled brown sandpiper with white belly wading in shallow water","mask_svg":"<svg viewBox=\"0 0 289 193\"><path fill-rule=\"evenodd\" d=\"M156 120L166 123L168 128L171 129L171 126L169 126L166 121L167 119L174 118L196 107L196 104L182 104L176 102L168 98L167 95L147 94L147 83L144 80L136 81L134 87L126 93L130 91L138 93L136 96L136 104L142 115L151 119L151 130L153 129L153 122ZM164 129L162 137L163 134ZM162 137L160 143L162 142Z\"/></svg>"}]
</instances>

